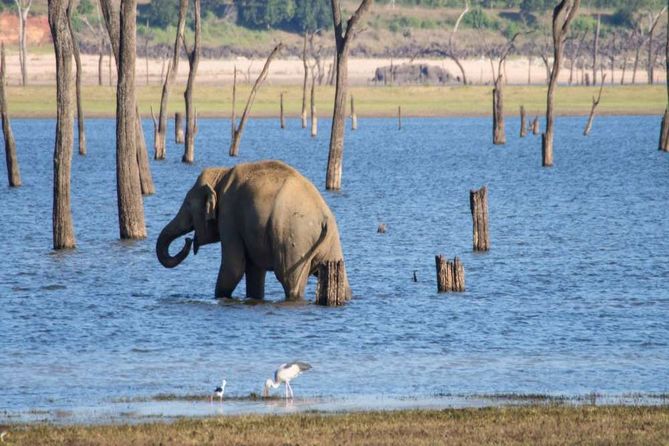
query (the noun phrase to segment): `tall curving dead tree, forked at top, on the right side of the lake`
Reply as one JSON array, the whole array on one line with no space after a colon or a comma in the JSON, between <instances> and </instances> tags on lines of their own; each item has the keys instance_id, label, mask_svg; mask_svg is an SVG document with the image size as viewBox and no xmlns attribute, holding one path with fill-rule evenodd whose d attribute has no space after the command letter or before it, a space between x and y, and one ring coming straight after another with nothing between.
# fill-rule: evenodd
<instances>
[{"instance_id":1,"label":"tall curving dead tree, forked at top, on the right side of the lake","mask_svg":"<svg viewBox=\"0 0 669 446\"><path fill-rule=\"evenodd\" d=\"M542 165L553 165L553 97L557 87L564 41L569 31L569 24L576 16L581 0L561 0L553 9L553 69L551 70L546 95L546 131L541 135Z\"/></svg>"}]
</instances>

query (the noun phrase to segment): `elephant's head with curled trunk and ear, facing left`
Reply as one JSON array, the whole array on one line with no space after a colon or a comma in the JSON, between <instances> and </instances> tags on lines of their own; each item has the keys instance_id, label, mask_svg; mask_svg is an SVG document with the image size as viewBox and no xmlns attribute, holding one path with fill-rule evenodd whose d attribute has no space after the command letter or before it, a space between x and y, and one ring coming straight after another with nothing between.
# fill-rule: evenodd
<instances>
[{"instance_id":1,"label":"elephant's head with curled trunk and ear, facing left","mask_svg":"<svg viewBox=\"0 0 669 446\"><path fill-rule=\"evenodd\" d=\"M202 245L220 241L218 233L216 186L222 176L220 169L216 175L212 170L202 172L195 185L188 191L179 212L163 228L156 242L156 255L160 263L166 268L174 268L189 254L191 245L193 253L197 254ZM212 178L215 177L215 178ZM176 255L171 256L170 244L177 238L195 230L194 237L186 238L184 246Z\"/></svg>"}]
</instances>

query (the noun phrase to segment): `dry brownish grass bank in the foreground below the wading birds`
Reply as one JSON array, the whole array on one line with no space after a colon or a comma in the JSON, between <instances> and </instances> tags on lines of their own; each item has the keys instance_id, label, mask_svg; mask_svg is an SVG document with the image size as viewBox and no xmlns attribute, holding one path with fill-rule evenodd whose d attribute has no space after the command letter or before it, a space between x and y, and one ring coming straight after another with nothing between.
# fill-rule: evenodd
<instances>
[{"instance_id":1,"label":"dry brownish grass bank in the foreground below the wading birds","mask_svg":"<svg viewBox=\"0 0 669 446\"><path fill-rule=\"evenodd\" d=\"M530 406L221 416L174 423L9 426L13 445L666 444L669 408Z\"/></svg>"}]
</instances>

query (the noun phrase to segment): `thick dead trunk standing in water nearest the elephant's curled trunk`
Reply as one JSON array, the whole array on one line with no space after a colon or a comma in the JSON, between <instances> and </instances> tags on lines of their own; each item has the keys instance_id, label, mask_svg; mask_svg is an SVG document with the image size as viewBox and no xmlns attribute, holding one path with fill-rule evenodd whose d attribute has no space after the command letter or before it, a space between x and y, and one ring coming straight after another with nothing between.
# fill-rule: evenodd
<instances>
[{"instance_id":1,"label":"thick dead trunk standing in water nearest the elephant's curled trunk","mask_svg":"<svg viewBox=\"0 0 669 446\"><path fill-rule=\"evenodd\" d=\"M144 204L137 163L135 57L137 0L122 0L115 11L112 0L100 0L116 59L116 196L121 239L146 238Z\"/></svg>"}]
</instances>

